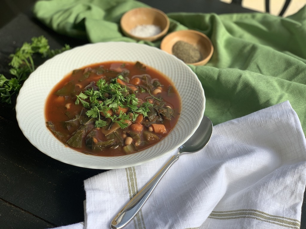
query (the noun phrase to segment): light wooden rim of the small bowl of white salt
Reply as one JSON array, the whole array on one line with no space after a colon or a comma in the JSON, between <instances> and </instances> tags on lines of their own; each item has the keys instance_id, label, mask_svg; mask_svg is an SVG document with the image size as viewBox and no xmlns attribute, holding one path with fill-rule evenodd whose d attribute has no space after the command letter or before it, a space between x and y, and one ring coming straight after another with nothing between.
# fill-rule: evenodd
<instances>
[{"instance_id":1,"label":"light wooden rim of the small bowl of white salt","mask_svg":"<svg viewBox=\"0 0 306 229\"><path fill-rule=\"evenodd\" d=\"M159 34L156 34L154 36L149 36L149 37L139 37L139 36L135 36L133 34L130 33L130 31L127 31L125 29L125 27L123 26L123 22L124 20L126 20L126 17L136 11L136 10L151 10L151 11L154 11L154 12L157 12L159 13L160 15L162 15L164 17L164 19L166 20L166 26L165 28L159 33ZM121 19L120 19L120 28L122 30L122 32L126 35L126 36L129 36L131 38L134 38L136 40L147 40L147 41L155 41L161 37L163 37L164 35L166 35L166 33L168 32L169 30L169 27L170 27L170 20L169 20L169 17L166 15L166 13L164 13L162 10L160 9L157 9L157 8L153 8L153 7L138 7L138 8L133 8L133 9L130 9L129 11L125 12Z\"/></svg>"}]
</instances>

